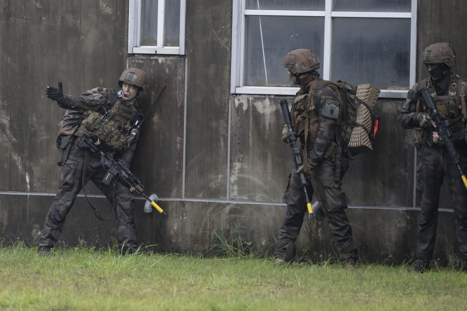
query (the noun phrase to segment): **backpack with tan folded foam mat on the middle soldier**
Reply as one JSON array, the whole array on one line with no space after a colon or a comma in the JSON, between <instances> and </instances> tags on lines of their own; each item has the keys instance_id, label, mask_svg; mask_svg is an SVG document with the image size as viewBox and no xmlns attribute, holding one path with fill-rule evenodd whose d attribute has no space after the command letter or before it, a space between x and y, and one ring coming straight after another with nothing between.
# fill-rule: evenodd
<instances>
[{"instance_id":1,"label":"backpack with tan folded foam mat on the middle soldier","mask_svg":"<svg viewBox=\"0 0 467 311\"><path fill-rule=\"evenodd\" d=\"M360 84L355 87L343 80L336 82L323 80L314 86L315 103L318 102L319 93L325 86L334 89L341 98L341 113L337 120L339 129L336 133L338 145L341 148L347 147L350 155L373 150L372 141L376 132L372 132L372 125L378 120L373 116L372 108L379 90L369 84Z\"/></svg>"}]
</instances>

